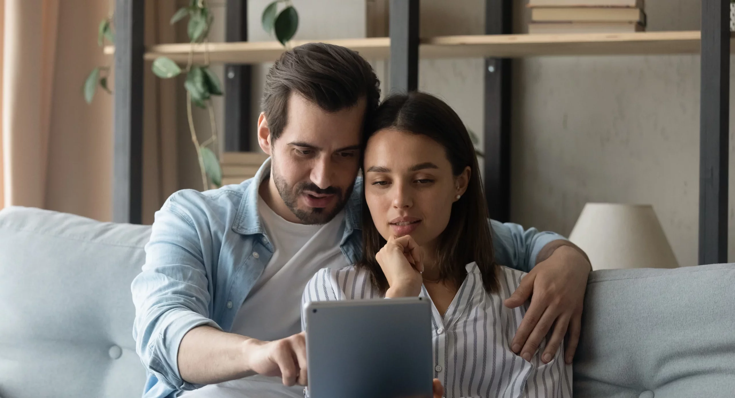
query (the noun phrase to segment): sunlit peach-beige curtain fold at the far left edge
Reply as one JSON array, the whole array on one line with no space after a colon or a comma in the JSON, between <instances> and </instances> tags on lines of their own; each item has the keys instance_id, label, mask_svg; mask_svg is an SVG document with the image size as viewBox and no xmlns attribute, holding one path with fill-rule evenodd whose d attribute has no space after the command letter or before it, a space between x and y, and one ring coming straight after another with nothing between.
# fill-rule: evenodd
<instances>
[{"instance_id":1,"label":"sunlit peach-beige curtain fold at the far left edge","mask_svg":"<svg viewBox=\"0 0 735 398\"><path fill-rule=\"evenodd\" d=\"M44 207L58 0L4 0L5 206Z\"/></svg>"}]
</instances>

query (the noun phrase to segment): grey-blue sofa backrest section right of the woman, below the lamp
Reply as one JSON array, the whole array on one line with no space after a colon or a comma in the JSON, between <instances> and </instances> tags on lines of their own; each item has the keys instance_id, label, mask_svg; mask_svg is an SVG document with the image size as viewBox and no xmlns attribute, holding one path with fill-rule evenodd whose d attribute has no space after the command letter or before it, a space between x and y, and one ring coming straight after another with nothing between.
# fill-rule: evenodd
<instances>
[{"instance_id":1,"label":"grey-blue sofa backrest section right of the woman, below the lamp","mask_svg":"<svg viewBox=\"0 0 735 398\"><path fill-rule=\"evenodd\" d=\"M576 397L734 397L735 264L592 272Z\"/></svg>"}]
</instances>

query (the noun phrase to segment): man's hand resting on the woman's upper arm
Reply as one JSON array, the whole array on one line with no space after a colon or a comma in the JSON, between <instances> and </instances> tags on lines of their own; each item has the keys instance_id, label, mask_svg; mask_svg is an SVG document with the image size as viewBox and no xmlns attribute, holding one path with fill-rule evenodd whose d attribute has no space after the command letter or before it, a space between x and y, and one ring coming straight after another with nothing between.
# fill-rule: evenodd
<instances>
[{"instance_id":1,"label":"man's hand resting on the woman's upper arm","mask_svg":"<svg viewBox=\"0 0 735 398\"><path fill-rule=\"evenodd\" d=\"M592 267L581 250L557 242L547 246L553 250L545 255L548 258L528 272L518 289L505 302L506 307L516 308L531 297L531 305L526 316L523 316L523 322L520 322L511 348L526 361L531 361L553 325L553 334L546 344L541 361L551 361L568 331L564 361L572 363L579 342L587 276ZM544 247L542 253L546 249ZM539 258L542 253L539 253Z\"/></svg>"}]
</instances>

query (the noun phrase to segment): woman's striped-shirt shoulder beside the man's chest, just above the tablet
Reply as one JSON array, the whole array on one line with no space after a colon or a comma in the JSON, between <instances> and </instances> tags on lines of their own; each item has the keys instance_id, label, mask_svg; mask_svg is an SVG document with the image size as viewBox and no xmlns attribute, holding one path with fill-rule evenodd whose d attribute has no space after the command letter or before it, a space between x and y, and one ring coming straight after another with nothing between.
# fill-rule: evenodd
<instances>
[{"instance_id":1,"label":"woman's striped-shirt shoulder beside the man's chest, just above the tablet","mask_svg":"<svg viewBox=\"0 0 735 398\"><path fill-rule=\"evenodd\" d=\"M378 298L370 273L351 265L343 268L320 269L306 283L304 299L307 301L362 300Z\"/></svg>"}]
</instances>

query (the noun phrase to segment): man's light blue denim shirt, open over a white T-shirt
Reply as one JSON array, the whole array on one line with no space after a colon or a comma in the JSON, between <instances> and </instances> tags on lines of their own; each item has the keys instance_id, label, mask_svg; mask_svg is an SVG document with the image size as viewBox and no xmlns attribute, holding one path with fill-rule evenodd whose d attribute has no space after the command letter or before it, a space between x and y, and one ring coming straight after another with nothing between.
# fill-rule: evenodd
<instances>
[{"instance_id":1,"label":"man's light blue denim shirt, open over a white T-shirt","mask_svg":"<svg viewBox=\"0 0 735 398\"><path fill-rule=\"evenodd\" d=\"M179 191L156 212L146 264L131 286L133 337L148 371L143 397L175 397L199 387L179 374L179 343L200 325L229 331L273 256L257 209L258 187L269 174L270 159L242 184ZM357 178L341 227L340 249L350 263L362 256L361 196L362 178ZM492 220L491 225L498 263L525 272L534 267L542 247L564 239L512 223Z\"/></svg>"}]
</instances>

